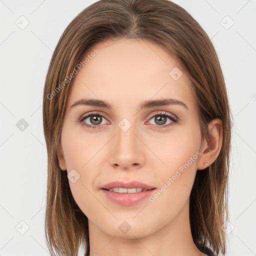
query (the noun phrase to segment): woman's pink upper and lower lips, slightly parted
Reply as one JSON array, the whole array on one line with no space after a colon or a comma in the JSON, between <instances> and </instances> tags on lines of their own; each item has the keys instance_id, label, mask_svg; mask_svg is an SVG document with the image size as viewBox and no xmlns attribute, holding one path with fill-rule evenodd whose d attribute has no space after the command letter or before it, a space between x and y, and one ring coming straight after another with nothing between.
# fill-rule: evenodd
<instances>
[{"instance_id":1,"label":"woman's pink upper and lower lips, slightly parted","mask_svg":"<svg viewBox=\"0 0 256 256\"><path fill-rule=\"evenodd\" d=\"M141 187L148 190L135 192L135 193L118 193L118 192L106 190L114 187L123 187L123 188ZM128 183L125 183L122 181L113 181L105 184L103 187L101 187L100 190L112 202L127 206L127 205L134 205L144 200L145 198L148 198L155 190L155 187L139 181L130 181Z\"/></svg>"}]
</instances>

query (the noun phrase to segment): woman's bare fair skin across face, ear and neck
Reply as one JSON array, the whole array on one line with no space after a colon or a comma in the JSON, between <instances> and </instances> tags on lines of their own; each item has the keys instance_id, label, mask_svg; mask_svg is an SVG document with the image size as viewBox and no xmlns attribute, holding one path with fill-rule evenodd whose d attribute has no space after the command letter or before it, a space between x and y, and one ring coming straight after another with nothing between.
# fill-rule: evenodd
<instances>
[{"instance_id":1,"label":"woman's bare fair skin across face, ear and neck","mask_svg":"<svg viewBox=\"0 0 256 256\"><path fill-rule=\"evenodd\" d=\"M72 80L58 150L59 166L67 173L75 169L80 178L69 179L72 195L88 217L90 255L206 255L193 243L189 223L189 194L196 171L211 164L222 143L221 120L208 124L210 143L201 139L199 119L191 82L178 59L149 40L107 40L91 46L98 54ZM84 54L84 56L86 55ZM84 59L84 58L83 58ZM178 80L169 72L182 71ZM173 98L178 104L140 108L149 99ZM112 109L77 105L76 100L95 98L107 101ZM97 111L102 121L83 119ZM159 111L174 115L170 126L155 120ZM93 112L92 112L93 113ZM123 131L118 123L126 118L131 126ZM197 151L197 157L158 197L130 206L107 199L100 187L114 180L138 180L160 189L182 163ZM126 221L127 233L118 226Z\"/></svg>"}]
</instances>

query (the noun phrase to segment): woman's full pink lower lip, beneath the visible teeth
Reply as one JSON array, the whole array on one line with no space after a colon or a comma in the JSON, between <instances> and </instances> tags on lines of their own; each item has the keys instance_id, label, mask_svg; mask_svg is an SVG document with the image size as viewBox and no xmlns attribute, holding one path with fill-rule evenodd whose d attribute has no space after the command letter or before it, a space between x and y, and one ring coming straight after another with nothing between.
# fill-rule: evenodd
<instances>
[{"instance_id":1,"label":"woman's full pink lower lip, beneath the visible teeth","mask_svg":"<svg viewBox=\"0 0 256 256\"><path fill-rule=\"evenodd\" d=\"M155 190L150 189L146 191L141 192L135 192L135 193L118 193L114 191L108 191L106 189L101 189L105 196L110 199L111 201L121 204L121 205L133 205L136 204L145 198L148 198L152 192Z\"/></svg>"}]
</instances>

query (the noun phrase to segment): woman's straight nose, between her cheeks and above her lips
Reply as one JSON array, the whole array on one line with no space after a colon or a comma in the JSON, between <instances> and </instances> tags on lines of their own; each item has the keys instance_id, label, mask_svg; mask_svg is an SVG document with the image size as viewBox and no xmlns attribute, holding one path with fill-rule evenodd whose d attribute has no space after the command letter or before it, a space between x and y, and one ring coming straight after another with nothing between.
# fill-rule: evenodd
<instances>
[{"instance_id":1,"label":"woman's straight nose, between her cheeks and above her lips","mask_svg":"<svg viewBox=\"0 0 256 256\"><path fill-rule=\"evenodd\" d=\"M110 144L109 164L123 170L138 169L143 166L145 145L140 136L135 124L127 130L121 125L117 126L116 135Z\"/></svg>"}]
</instances>

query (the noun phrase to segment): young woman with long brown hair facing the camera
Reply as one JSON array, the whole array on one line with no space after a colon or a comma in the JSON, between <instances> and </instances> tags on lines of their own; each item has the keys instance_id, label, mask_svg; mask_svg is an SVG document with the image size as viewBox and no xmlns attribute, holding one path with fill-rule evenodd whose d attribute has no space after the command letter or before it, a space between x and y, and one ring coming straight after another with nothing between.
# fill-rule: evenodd
<instances>
[{"instance_id":1,"label":"young woman with long brown hair facing the camera","mask_svg":"<svg viewBox=\"0 0 256 256\"><path fill-rule=\"evenodd\" d=\"M169 0L99 0L43 95L51 255L225 254L229 104L207 34Z\"/></svg>"}]
</instances>

